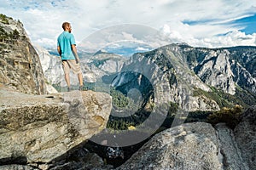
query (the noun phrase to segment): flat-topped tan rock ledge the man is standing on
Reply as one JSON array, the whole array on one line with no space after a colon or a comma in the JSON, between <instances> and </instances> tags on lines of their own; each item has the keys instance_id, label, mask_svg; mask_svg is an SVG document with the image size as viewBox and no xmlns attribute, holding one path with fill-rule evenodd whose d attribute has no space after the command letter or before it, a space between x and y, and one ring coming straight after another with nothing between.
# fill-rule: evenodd
<instances>
[{"instance_id":1,"label":"flat-topped tan rock ledge the man is standing on","mask_svg":"<svg viewBox=\"0 0 256 170\"><path fill-rule=\"evenodd\" d=\"M29 95L0 88L0 164L51 163L102 131L111 97L92 91Z\"/></svg>"}]
</instances>

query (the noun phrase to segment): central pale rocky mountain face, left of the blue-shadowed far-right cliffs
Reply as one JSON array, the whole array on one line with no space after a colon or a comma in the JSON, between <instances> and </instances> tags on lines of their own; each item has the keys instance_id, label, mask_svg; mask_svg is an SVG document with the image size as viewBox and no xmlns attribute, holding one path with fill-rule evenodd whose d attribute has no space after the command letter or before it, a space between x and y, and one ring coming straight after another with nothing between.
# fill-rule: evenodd
<instances>
[{"instance_id":1,"label":"central pale rocky mountain face, left of the blue-shadowed far-right cliffs","mask_svg":"<svg viewBox=\"0 0 256 170\"><path fill-rule=\"evenodd\" d=\"M131 60L125 63L119 76L115 77L112 85L118 89L125 89L125 86L140 89L136 84L147 88L147 84L137 83L140 81L139 77L146 77L153 90L144 89L143 91L151 92L151 96L154 96L154 100L159 105L173 102L185 111L217 111L219 106L216 101L203 95L193 94L195 88L201 88L207 92L211 91L211 88L195 76L195 73L183 62L182 57L177 46L134 54ZM137 72L140 76L133 78L132 75L127 74L129 71ZM127 77L128 80L126 80ZM140 92L142 93L142 90Z\"/></svg>"}]
</instances>

